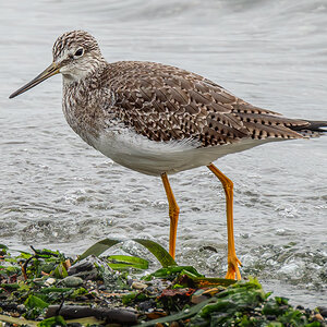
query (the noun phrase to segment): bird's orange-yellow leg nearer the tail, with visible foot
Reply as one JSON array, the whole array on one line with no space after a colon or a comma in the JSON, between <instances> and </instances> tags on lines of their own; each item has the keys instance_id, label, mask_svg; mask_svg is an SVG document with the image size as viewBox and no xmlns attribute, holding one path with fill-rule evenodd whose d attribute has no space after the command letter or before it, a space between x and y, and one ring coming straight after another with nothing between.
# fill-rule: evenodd
<instances>
[{"instance_id":1,"label":"bird's orange-yellow leg nearer the tail, with visible foot","mask_svg":"<svg viewBox=\"0 0 327 327\"><path fill-rule=\"evenodd\" d=\"M233 182L227 178L216 166L213 164L208 168L221 182L226 194L226 211L227 211L227 237L228 237L228 270L226 278L228 279L241 279L239 265L241 262L237 257L235 244L234 244L234 230L233 230Z\"/></svg>"}]
</instances>

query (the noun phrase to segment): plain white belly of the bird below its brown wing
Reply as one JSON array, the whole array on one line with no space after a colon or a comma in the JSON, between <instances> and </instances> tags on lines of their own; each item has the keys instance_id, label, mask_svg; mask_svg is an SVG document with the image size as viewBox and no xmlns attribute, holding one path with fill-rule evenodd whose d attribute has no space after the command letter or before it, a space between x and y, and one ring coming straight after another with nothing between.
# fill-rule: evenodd
<instances>
[{"instance_id":1,"label":"plain white belly of the bird below its brown wing","mask_svg":"<svg viewBox=\"0 0 327 327\"><path fill-rule=\"evenodd\" d=\"M197 142L191 140L156 142L126 128L116 128L107 130L92 143L117 164L145 174L160 175L207 166L222 156L264 142L242 140L240 143L201 148Z\"/></svg>"}]
</instances>

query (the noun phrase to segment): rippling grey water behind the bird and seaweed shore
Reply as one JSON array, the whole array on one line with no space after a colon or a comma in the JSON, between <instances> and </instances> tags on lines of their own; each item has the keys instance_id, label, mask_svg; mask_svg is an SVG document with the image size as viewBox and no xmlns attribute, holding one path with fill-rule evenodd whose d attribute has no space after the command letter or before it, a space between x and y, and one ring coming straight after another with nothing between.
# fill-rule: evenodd
<instances>
[{"instance_id":1,"label":"rippling grey water behind the bird and seaweed shore","mask_svg":"<svg viewBox=\"0 0 327 327\"><path fill-rule=\"evenodd\" d=\"M2 1L0 230L15 249L82 253L106 237L168 244L158 178L84 144L61 112L61 78L8 96L51 62L63 32L89 31L108 61L150 60L216 81L250 102L326 120L326 1ZM327 137L267 144L216 162L234 181L243 275L292 303L326 305ZM171 177L177 258L226 271L225 196L206 168ZM217 250L210 251L206 246ZM138 252L128 243L128 252ZM143 252L144 254L144 252Z\"/></svg>"}]
</instances>

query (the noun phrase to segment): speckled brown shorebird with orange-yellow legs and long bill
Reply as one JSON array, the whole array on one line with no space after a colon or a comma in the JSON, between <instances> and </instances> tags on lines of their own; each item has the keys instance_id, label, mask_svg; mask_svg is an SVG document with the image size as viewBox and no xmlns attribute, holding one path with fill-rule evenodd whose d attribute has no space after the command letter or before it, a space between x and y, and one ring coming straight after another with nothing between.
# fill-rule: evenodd
<instances>
[{"instance_id":1,"label":"speckled brown shorebird with orange-yellow legs and long bill","mask_svg":"<svg viewBox=\"0 0 327 327\"><path fill-rule=\"evenodd\" d=\"M62 109L90 146L135 171L161 177L169 204L169 253L174 257L179 206L168 174L207 166L226 193L228 270L241 279L233 233L233 183L214 161L281 140L326 132L327 121L289 119L252 106L201 75L156 62L108 63L96 39L83 31L61 35L53 62L13 93L13 98L58 73Z\"/></svg>"}]
</instances>

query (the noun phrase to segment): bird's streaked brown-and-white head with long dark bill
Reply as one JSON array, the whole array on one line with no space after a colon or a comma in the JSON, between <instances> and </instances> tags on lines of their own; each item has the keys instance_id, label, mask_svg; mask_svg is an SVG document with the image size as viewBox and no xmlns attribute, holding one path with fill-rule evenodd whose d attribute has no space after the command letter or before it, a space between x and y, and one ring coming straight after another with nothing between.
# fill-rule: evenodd
<instances>
[{"instance_id":1,"label":"bird's streaked brown-and-white head with long dark bill","mask_svg":"<svg viewBox=\"0 0 327 327\"><path fill-rule=\"evenodd\" d=\"M104 62L97 40L84 31L68 32L58 37L52 48L52 63L44 72L10 95L10 98L58 73L63 75L64 83L78 81Z\"/></svg>"}]
</instances>

